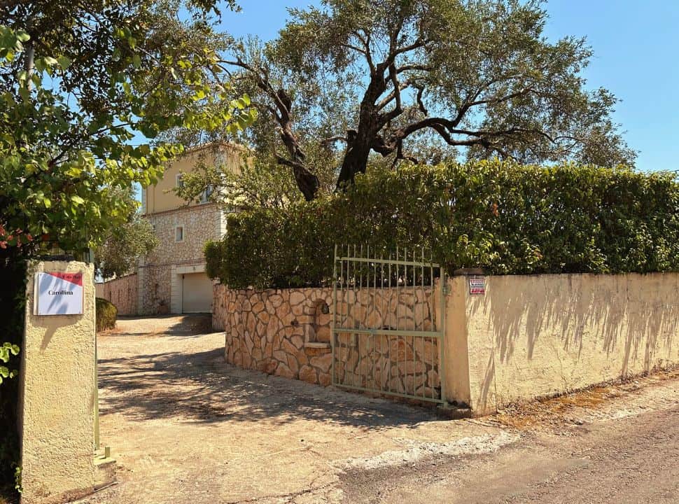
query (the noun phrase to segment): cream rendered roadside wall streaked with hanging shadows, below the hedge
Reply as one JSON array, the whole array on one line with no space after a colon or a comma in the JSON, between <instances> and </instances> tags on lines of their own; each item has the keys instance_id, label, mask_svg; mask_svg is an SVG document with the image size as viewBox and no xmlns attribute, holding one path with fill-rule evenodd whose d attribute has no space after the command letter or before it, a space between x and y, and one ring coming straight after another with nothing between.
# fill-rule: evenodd
<instances>
[{"instance_id":1,"label":"cream rendered roadside wall streaked with hanging shadows, below the hedge","mask_svg":"<svg viewBox=\"0 0 679 504\"><path fill-rule=\"evenodd\" d=\"M450 400L486 414L679 363L679 274L486 276L450 281Z\"/></svg>"}]
</instances>

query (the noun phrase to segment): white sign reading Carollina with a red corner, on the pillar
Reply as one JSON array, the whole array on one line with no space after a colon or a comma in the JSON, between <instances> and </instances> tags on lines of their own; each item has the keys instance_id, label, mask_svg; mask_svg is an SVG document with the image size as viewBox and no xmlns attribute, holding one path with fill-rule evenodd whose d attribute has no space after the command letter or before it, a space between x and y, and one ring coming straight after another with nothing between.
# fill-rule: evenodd
<instances>
[{"instance_id":1,"label":"white sign reading Carollina with a red corner, on the pillar","mask_svg":"<svg viewBox=\"0 0 679 504\"><path fill-rule=\"evenodd\" d=\"M36 315L79 315L83 313L82 273L36 273Z\"/></svg>"}]
</instances>

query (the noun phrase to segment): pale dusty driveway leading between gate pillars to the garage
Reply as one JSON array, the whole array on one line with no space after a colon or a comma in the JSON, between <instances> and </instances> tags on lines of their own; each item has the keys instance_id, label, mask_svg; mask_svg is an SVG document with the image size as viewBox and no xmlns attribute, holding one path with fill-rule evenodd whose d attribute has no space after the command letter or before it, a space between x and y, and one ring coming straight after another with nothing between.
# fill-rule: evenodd
<instances>
[{"instance_id":1,"label":"pale dusty driveway leading between gate pillars to the garage","mask_svg":"<svg viewBox=\"0 0 679 504\"><path fill-rule=\"evenodd\" d=\"M223 332L195 335L196 324L125 319L99 336L101 440L119 484L85 502L339 502L347 468L512 441L427 409L240 370L224 361Z\"/></svg>"}]
</instances>

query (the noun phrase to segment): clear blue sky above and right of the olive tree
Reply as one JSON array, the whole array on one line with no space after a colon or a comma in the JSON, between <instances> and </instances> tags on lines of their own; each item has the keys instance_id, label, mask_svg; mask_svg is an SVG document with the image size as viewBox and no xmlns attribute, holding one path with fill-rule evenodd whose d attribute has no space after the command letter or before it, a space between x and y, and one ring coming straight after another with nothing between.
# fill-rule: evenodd
<instances>
[{"instance_id":1,"label":"clear blue sky above and right of the olive tree","mask_svg":"<svg viewBox=\"0 0 679 504\"><path fill-rule=\"evenodd\" d=\"M239 0L240 13L223 12L235 36L274 38L286 7L311 0ZM637 167L679 169L679 1L552 0L546 35L586 36L594 57L584 76L622 99L615 120L628 144L640 151Z\"/></svg>"}]
</instances>

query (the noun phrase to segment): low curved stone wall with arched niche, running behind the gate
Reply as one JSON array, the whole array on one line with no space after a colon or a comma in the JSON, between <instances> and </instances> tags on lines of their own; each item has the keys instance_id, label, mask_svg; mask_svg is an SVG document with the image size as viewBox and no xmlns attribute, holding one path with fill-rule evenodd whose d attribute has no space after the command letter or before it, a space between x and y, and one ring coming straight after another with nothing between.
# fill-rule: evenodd
<instances>
[{"instance_id":1,"label":"low curved stone wall with arched niche, running behind the gate","mask_svg":"<svg viewBox=\"0 0 679 504\"><path fill-rule=\"evenodd\" d=\"M327 386L332 288L231 290L216 286L213 321L228 363ZM435 330L431 290L340 291L335 377L347 386L433 398L440 394L438 340L351 329Z\"/></svg>"}]
</instances>

